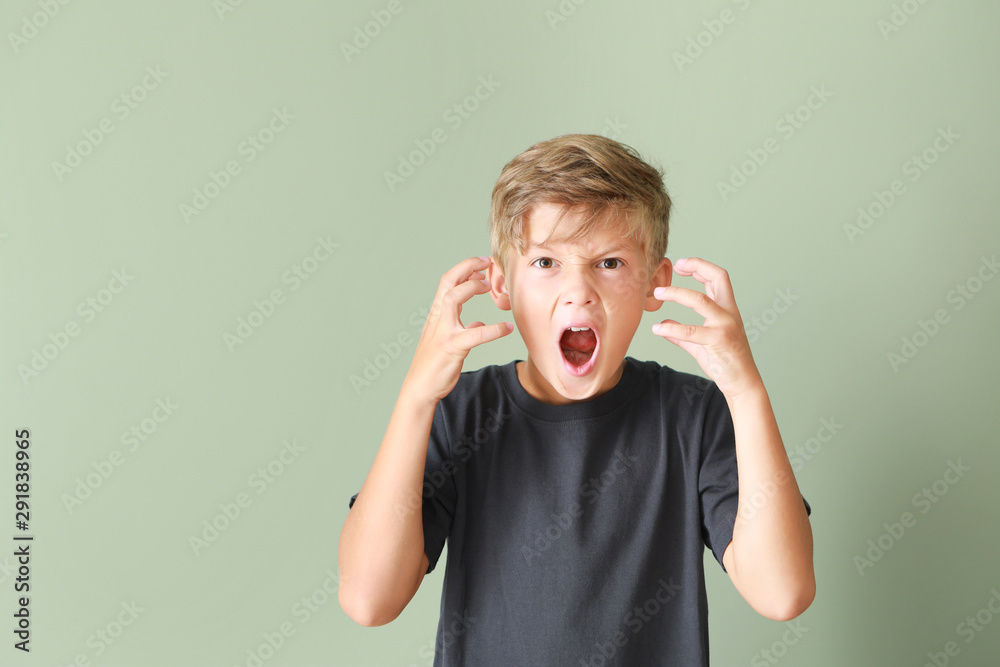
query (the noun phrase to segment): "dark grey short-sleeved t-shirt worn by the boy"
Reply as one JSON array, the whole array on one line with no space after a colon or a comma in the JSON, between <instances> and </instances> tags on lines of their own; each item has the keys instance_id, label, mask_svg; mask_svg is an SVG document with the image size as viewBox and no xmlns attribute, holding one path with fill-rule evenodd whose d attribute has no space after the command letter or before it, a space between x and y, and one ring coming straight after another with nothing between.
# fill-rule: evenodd
<instances>
[{"instance_id":1,"label":"dark grey short-sleeved t-shirt worn by the boy","mask_svg":"<svg viewBox=\"0 0 1000 667\"><path fill-rule=\"evenodd\" d=\"M517 361L463 372L434 413L435 667L708 665L704 548L722 564L738 493L722 392L625 357L611 390L550 405Z\"/></svg>"}]
</instances>

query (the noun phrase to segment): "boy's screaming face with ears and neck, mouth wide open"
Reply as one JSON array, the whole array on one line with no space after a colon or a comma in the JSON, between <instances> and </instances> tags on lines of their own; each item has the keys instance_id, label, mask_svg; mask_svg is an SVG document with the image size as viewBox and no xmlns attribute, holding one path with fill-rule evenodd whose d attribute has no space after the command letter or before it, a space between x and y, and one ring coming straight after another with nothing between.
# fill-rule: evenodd
<instances>
[{"instance_id":1,"label":"boy's screaming face with ears and neck, mouth wide open","mask_svg":"<svg viewBox=\"0 0 1000 667\"><path fill-rule=\"evenodd\" d=\"M647 276L643 249L614 229L573 244L559 242L579 224L575 212L563 218L549 246L539 247L561 208L535 205L525 216L525 254L511 250L506 275L495 260L488 274L493 300L513 311L528 348L527 360L517 364L521 385L556 405L595 398L618 383L643 310L663 304L653 289L669 285L673 272L663 259ZM590 332L574 334L570 326Z\"/></svg>"}]
</instances>

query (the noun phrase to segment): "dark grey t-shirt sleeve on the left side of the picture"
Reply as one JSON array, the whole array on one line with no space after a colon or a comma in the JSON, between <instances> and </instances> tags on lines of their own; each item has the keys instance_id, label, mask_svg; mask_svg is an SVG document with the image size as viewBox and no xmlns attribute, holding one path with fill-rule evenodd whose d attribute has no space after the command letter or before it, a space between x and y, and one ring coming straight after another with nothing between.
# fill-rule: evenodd
<instances>
[{"instance_id":1,"label":"dark grey t-shirt sleeve on the left side of the picture","mask_svg":"<svg viewBox=\"0 0 1000 667\"><path fill-rule=\"evenodd\" d=\"M455 474L458 467L452 461L451 448L445 426L444 412L439 401L434 410L430 438L427 443L427 460L424 464L424 485L421 489L421 511L424 526L424 553L427 554L427 572L437 565L445 539L451 532L455 516ZM351 496L348 509L354 507L358 494ZM410 506L397 508L399 512L412 511Z\"/></svg>"}]
</instances>

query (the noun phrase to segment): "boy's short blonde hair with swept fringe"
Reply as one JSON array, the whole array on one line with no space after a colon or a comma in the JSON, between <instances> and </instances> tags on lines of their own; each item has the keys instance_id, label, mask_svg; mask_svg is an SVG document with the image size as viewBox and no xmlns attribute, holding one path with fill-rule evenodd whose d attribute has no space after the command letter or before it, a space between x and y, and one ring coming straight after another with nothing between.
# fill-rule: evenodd
<instances>
[{"instance_id":1,"label":"boy's short blonde hair with swept fringe","mask_svg":"<svg viewBox=\"0 0 1000 667\"><path fill-rule=\"evenodd\" d=\"M565 134L508 162L490 205L490 251L504 272L510 251L524 254L527 247L525 214L543 202L565 205L556 225L570 211L583 214L567 242L612 225L622 237L638 241L647 279L667 251L671 202L663 171L631 146L598 134Z\"/></svg>"}]
</instances>

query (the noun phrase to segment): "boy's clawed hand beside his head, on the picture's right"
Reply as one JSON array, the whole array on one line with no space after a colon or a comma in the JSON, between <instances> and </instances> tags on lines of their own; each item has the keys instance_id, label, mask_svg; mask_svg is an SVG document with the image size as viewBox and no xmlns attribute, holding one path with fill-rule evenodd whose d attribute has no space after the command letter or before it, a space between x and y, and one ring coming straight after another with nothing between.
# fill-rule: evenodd
<instances>
[{"instance_id":1,"label":"boy's clawed hand beside his head, on the picture's right","mask_svg":"<svg viewBox=\"0 0 1000 667\"><path fill-rule=\"evenodd\" d=\"M704 259L687 257L674 263L674 271L694 276L705 285L705 293L670 285L657 287L653 296L688 306L702 315L705 322L680 324L667 319L654 324L653 333L694 357L727 399L763 387L726 270Z\"/></svg>"}]
</instances>

